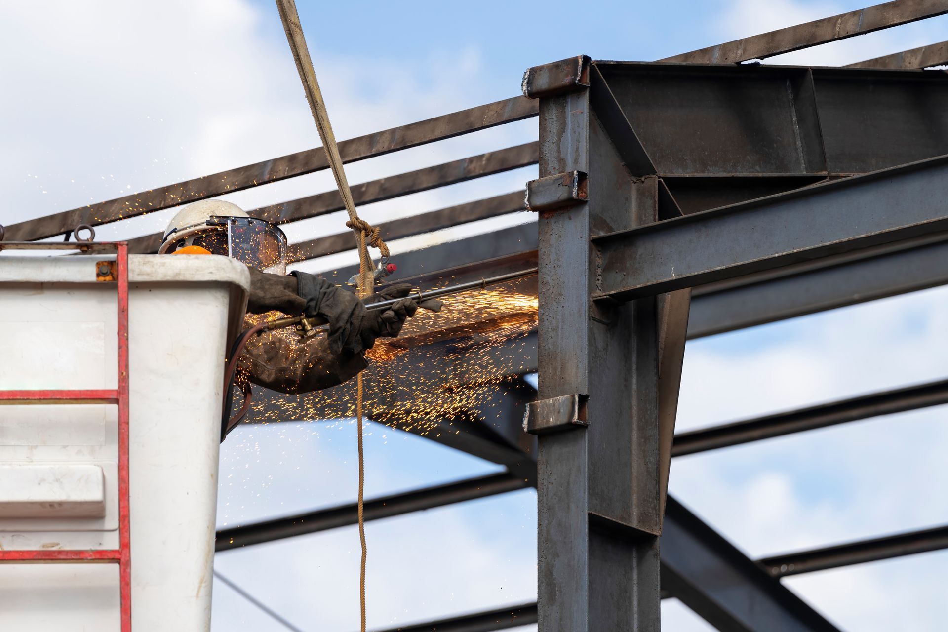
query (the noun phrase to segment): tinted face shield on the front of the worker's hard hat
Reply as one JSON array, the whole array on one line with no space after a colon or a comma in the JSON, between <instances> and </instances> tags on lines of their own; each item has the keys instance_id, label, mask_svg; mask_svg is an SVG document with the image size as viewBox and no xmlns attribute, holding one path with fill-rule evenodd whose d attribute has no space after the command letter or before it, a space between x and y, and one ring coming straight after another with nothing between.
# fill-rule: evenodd
<instances>
[{"instance_id":1,"label":"tinted face shield on the front of the worker's hard hat","mask_svg":"<svg viewBox=\"0 0 948 632\"><path fill-rule=\"evenodd\" d=\"M187 246L203 248L270 274L286 274L286 235L277 226L254 217L211 215L203 222L170 235L159 252Z\"/></svg>"}]
</instances>

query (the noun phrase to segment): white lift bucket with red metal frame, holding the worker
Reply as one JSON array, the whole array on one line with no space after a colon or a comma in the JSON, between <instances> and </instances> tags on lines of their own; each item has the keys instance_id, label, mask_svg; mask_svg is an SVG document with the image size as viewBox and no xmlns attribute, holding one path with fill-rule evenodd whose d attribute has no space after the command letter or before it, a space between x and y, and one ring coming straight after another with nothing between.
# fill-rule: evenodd
<instances>
[{"instance_id":1,"label":"white lift bucket with red metal frame, holding the worker","mask_svg":"<svg viewBox=\"0 0 948 632\"><path fill-rule=\"evenodd\" d=\"M0 406L0 630L209 630L224 361L246 267L132 255L126 275L115 254L123 259L124 244L59 245L85 254L0 257L0 391L42 400ZM117 362L125 281L127 399ZM124 542L120 505L130 510Z\"/></svg>"}]
</instances>

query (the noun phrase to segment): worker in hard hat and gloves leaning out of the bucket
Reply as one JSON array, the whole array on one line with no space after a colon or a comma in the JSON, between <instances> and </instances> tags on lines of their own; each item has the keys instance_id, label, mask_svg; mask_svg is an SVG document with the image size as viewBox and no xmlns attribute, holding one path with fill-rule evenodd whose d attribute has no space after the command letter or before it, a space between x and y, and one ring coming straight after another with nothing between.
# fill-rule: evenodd
<instances>
[{"instance_id":1,"label":"worker in hard hat and gloves leaning out of the bucket","mask_svg":"<svg viewBox=\"0 0 948 632\"><path fill-rule=\"evenodd\" d=\"M250 271L248 314L322 316L329 322L325 336L254 336L238 358L237 370L253 384L284 393L335 387L368 366L365 351L376 338L397 336L418 303L405 298L411 290L408 284L393 285L363 301L321 276L300 270L286 275L286 250L279 227L250 217L230 202L202 200L174 215L158 253L210 253L245 263ZM392 298L402 300L384 311L365 308L367 302ZM250 326L245 320L245 328Z\"/></svg>"}]
</instances>

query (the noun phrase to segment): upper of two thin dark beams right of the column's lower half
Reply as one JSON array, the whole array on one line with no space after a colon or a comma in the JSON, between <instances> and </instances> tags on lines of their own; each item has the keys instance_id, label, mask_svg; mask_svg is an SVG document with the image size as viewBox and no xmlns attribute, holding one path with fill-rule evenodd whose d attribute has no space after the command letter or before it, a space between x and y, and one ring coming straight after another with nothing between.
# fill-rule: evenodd
<instances>
[{"instance_id":1,"label":"upper of two thin dark beams right of the column's lower half","mask_svg":"<svg viewBox=\"0 0 948 632\"><path fill-rule=\"evenodd\" d=\"M716 450L740 443L756 442L794 432L846 424L940 404L948 404L948 380L908 388L895 388L733 424L680 432L675 435L671 454L674 457L682 457L696 452Z\"/></svg>"}]
</instances>

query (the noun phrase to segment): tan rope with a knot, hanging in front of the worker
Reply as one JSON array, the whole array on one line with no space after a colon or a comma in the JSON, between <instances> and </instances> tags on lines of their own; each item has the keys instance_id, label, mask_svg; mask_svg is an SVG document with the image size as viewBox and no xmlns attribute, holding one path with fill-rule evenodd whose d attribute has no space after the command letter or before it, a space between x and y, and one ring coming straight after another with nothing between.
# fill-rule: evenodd
<instances>
[{"instance_id":1,"label":"tan rope with a knot, hanging in front of the worker","mask_svg":"<svg viewBox=\"0 0 948 632\"><path fill-rule=\"evenodd\" d=\"M283 22L283 30L286 32L286 40L289 42L290 50L293 51L293 59L296 62L297 70L300 72L303 89L306 92L306 100L309 101L309 108L313 113L313 119L316 121L316 129L319 130L319 138L322 140L322 147L326 151L326 157L329 160L329 166L333 170L333 176L336 178L336 186L339 194L342 196L342 203L345 205L346 213L349 215L349 221L346 226L353 229L356 233L356 243L358 244L359 260L359 282L358 296L366 298L371 296L374 290L374 279L372 269L372 259L369 257L369 249L366 242L378 248L382 257L389 256L389 246L382 241L381 231L361 219L356 214L356 203L353 201L352 191L349 190L349 182L346 180L346 172L342 169L342 158L339 156L339 149L336 144L336 136L333 135L332 125L329 124L329 114L326 112L326 105L322 100L322 93L319 91L319 81L316 81L316 71L313 69L313 61L309 57L309 49L306 47L306 40L302 35L300 25L300 15L297 13L294 0L276 0L277 9L280 11L280 19ZM365 491L365 453L362 447L362 373L356 377L356 424L358 425L358 537L362 544L362 561L359 565L359 603L362 627L365 632L365 563L368 558L368 549L365 543L365 516L363 513Z\"/></svg>"}]
</instances>

